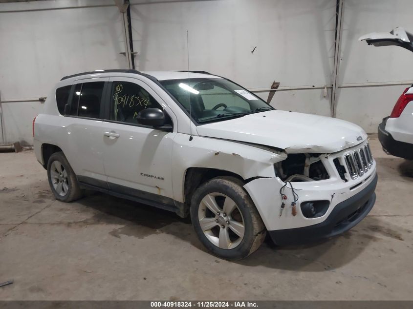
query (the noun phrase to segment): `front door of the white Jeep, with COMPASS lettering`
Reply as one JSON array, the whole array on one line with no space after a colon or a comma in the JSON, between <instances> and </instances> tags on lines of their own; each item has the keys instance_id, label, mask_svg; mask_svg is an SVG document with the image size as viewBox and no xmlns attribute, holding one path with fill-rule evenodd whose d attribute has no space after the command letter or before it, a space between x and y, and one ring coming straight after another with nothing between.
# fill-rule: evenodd
<instances>
[{"instance_id":1,"label":"front door of the white Jeep, with COMPASS lettering","mask_svg":"<svg viewBox=\"0 0 413 309\"><path fill-rule=\"evenodd\" d=\"M101 138L110 190L173 204L175 133L139 124L136 116L145 108L157 107L169 115L168 122L174 126L170 118L174 114L150 86L134 78L110 78L108 98Z\"/></svg>"}]
</instances>

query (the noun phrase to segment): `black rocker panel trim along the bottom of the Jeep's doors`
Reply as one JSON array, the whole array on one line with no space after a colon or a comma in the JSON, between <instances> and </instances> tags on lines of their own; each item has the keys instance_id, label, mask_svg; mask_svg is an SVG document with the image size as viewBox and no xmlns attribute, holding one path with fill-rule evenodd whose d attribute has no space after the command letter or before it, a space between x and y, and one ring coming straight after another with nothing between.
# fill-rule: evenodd
<instances>
[{"instance_id":1,"label":"black rocker panel trim along the bottom of the Jeep's doors","mask_svg":"<svg viewBox=\"0 0 413 309\"><path fill-rule=\"evenodd\" d=\"M146 204L149 206L169 210L180 214L181 210L175 206L174 200L165 196L132 189L123 185L106 183L90 177L78 176L79 184L84 189L96 190L122 199Z\"/></svg>"}]
</instances>

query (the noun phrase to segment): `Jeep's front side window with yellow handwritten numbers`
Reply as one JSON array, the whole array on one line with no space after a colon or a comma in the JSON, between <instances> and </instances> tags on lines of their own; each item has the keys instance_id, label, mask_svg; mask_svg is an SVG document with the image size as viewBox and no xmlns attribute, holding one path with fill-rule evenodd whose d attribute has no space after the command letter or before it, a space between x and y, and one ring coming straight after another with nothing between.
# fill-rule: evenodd
<instances>
[{"instance_id":1,"label":"Jeep's front side window with yellow handwritten numbers","mask_svg":"<svg viewBox=\"0 0 413 309\"><path fill-rule=\"evenodd\" d=\"M141 86L132 82L112 82L110 120L138 124L137 114L152 107L163 109Z\"/></svg>"}]
</instances>

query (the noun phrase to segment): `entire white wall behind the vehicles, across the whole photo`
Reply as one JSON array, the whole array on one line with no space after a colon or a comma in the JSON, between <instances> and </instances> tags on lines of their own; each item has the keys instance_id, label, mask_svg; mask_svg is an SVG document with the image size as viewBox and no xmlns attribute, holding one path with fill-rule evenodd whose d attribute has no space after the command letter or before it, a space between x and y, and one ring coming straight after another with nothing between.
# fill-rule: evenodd
<instances>
[{"instance_id":1,"label":"entire white wall behind the vehicles, across the whole photo","mask_svg":"<svg viewBox=\"0 0 413 309\"><path fill-rule=\"evenodd\" d=\"M276 108L330 114L336 0L141 2L131 1L138 70L186 69L188 30L191 70L226 76L253 91L261 89L257 94L264 99L265 89L275 80L284 89L274 96ZM406 86L359 86L409 81L413 55L357 39L396 26L413 31L409 14L413 3L344 3L337 117L374 132ZM125 49L122 29L112 0L0 4L0 93L6 101L6 142L32 143L31 121L42 103L25 100L46 96L61 77L125 68L125 56L119 54Z\"/></svg>"}]
</instances>

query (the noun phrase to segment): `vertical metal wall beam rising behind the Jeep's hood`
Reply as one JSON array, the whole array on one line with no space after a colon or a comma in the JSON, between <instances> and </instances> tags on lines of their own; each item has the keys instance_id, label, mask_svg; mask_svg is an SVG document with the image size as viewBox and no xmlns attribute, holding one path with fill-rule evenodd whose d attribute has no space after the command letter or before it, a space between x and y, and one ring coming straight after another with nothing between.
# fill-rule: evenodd
<instances>
[{"instance_id":1,"label":"vertical metal wall beam rising behind the Jeep's hood","mask_svg":"<svg viewBox=\"0 0 413 309\"><path fill-rule=\"evenodd\" d=\"M334 71L333 71L333 87L331 92L331 116L336 117L337 109L337 84L339 78L339 69L340 69L340 56L341 56L341 36L343 32L343 4L344 0L337 0L337 9L336 9L336 38L335 38L335 50L334 50Z\"/></svg>"}]
</instances>

